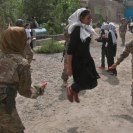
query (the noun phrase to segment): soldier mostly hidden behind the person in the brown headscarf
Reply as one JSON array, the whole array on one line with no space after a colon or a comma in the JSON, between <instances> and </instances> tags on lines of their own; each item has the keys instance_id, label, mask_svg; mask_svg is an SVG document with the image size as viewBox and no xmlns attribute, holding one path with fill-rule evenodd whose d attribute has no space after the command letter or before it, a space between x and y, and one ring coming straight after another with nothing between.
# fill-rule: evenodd
<instances>
[{"instance_id":1,"label":"soldier mostly hidden behind the person in the brown headscarf","mask_svg":"<svg viewBox=\"0 0 133 133\"><path fill-rule=\"evenodd\" d=\"M16 26L24 27L24 21L22 19L18 19L16 21ZM25 54L25 58L28 60L28 62L30 64L33 59L33 51L31 49L28 37L27 37L27 45L25 46L24 54Z\"/></svg>"}]
</instances>

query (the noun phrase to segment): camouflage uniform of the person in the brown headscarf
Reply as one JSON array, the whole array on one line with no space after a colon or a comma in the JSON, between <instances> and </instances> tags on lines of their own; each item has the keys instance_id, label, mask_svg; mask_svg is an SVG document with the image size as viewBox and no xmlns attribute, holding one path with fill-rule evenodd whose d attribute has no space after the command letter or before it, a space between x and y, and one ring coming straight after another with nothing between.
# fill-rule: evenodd
<instances>
[{"instance_id":1,"label":"camouflage uniform of the person in the brown headscarf","mask_svg":"<svg viewBox=\"0 0 133 133\"><path fill-rule=\"evenodd\" d=\"M20 95L31 97L30 66L26 59L15 54L0 52L0 91L10 86ZM16 107L11 114L6 111L4 101L6 94L0 93L0 133L24 133L24 126L18 116Z\"/></svg>"}]
</instances>

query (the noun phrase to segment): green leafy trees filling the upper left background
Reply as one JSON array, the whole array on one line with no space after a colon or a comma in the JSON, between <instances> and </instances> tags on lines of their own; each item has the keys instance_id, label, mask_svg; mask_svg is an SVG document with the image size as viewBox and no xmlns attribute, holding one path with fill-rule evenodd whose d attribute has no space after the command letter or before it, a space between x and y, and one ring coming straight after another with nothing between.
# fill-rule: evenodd
<instances>
[{"instance_id":1,"label":"green leafy trees filling the upper left background","mask_svg":"<svg viewBox=\"0 0 133 133\"><path fill-rule=\"evenodd\" d=\"M78 0L0 0L0 26L36 17L49 34L62 33L68 17L79 7Z\"/></svg>"}]
</instances>

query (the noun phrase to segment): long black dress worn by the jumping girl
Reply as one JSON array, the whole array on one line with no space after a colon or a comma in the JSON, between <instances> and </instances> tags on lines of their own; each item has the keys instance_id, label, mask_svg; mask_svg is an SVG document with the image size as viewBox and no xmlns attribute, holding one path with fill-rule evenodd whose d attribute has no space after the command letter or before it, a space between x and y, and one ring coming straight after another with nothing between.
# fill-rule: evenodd
<instances>
[{"instance_id":1,"label":"long black dress worn by the jumping girl","mask_svg":"<svg viewBox=\"0 0 133 133\"><path fill-rule=\"evenodd\" d=\"M72 55L72 72L74 80L72 89L76 92L92 89L97 86L99 75L90 54L90 41L90 37L84 42L81 41L79 26L75 27L70 35L67 54Z\"/></svg>"}]
</instances>

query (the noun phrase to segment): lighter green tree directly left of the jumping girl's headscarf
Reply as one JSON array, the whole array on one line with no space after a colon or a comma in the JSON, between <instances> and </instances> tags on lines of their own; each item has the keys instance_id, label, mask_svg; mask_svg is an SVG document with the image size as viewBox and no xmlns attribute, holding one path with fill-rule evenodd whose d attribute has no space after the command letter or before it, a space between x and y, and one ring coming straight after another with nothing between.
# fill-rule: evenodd
<instances>
[{"instance_id":1,"label":"lighter green tree directly left of the jumping girl's headscarf","mask_svg":"<svg viewBox=\"0 0 133 133\"><path fill-rule=\"evenodd\" d=\"M53 1L53 5L51 6L53 11L50 13L51 20L53 22L53 31L55 33L62 33L68 17L79 7L80 3L76 0Z\"/></svg>"}]
</instances>

